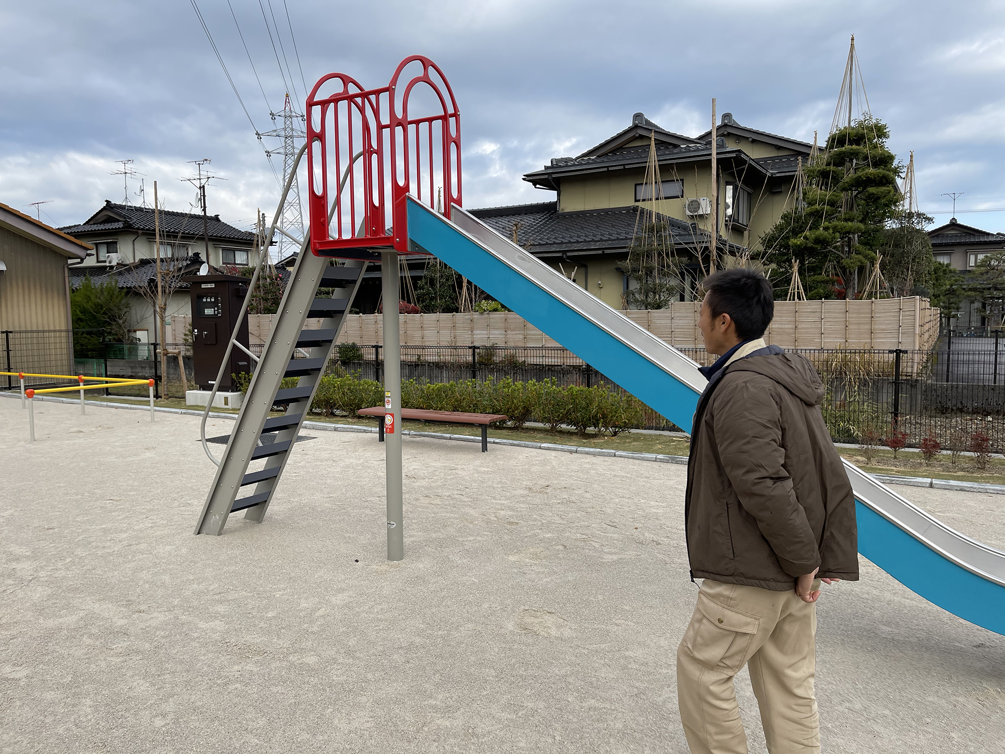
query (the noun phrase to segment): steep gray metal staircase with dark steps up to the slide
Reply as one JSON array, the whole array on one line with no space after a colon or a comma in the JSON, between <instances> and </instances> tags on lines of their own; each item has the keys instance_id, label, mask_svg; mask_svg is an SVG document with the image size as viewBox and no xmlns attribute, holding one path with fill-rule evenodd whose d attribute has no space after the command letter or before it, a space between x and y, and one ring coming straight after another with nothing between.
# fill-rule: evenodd
<instances>
[{"instance_id":1,"label":"steep gray metal staircase with dark steps up to the slide","mask_svg":"<svg viewBox=\"0 0 1005 754\"><path fill-rule=\"evenodd\" d=\"M301 250L217 465L196 534L219 535L236 511L244 511L244 518L255 522L265 516L366 264L349 261L346 266L331 266L329 258ZM319 288L335 289L336 296L319 299ZM321 329L305 330L309 317L323 318ZM284 377L298 377L296 387L280 389ZM270 417L273 406L284 406L285 412ZM276 433L274 440L262 444L260 437L270 432ZM264 461L260 468L248 470L259 461ZM247 491L251 494L237 497Z\"/></svg>"}]
</instances>

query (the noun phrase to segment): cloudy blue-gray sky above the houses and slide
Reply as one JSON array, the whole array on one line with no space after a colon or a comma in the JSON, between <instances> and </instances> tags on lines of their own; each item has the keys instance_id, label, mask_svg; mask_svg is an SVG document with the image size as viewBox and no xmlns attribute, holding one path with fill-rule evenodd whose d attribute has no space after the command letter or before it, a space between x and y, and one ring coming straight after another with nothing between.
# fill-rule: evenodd
<instances>
[{"instance_id":1,"label":"cloudy blue-gray sky above the houses and slide","mask_svg":"<svg viewBox=\"0 0 1005 754\"><path fill-rule=\"evenodd\" d=\"M822 139L853 33L873 115L899 157L915 151L922 209L964 192L961 222L1005 231L1005 211L971 211L1005 207L1001 0L230 0L264 95L226 0L197 4L259 131L287 88L303 107L325 73L380 86L403 57L432 57L461 109L467 207L552 199L521 176L639 111L694 136L716 97L742 125ZM248 227L274 210L276 180L189 0L0 0L0 202L34 214L48 200L44 222L80 222L123 201L111 172L132 159L148 202L157 180L167 208L187 210L186 163L210 158L227 179L209 188L211 214Z\"/></svg>"}]
</instances>

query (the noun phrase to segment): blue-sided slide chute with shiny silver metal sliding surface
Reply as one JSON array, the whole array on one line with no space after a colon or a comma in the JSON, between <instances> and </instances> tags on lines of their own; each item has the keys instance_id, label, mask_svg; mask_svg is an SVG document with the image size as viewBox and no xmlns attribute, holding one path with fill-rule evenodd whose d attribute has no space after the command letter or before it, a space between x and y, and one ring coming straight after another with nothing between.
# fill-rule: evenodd
<instances>
[{"instance_id":1,"label":"blue-sided slide chute with shiny silver metal sliding surface","mask_svg":"<svg viewBox=\"0 0 1005 754\"><path fill-rule=\"evenodd\" d=\"M605 376L689 430L706 379L697 364L453 206L451 220L408 198L409 244L442 259ZM949 528L857 466L858 551L908 588L1005 635L1005 553Z\"/></svg>"}]
</instances>

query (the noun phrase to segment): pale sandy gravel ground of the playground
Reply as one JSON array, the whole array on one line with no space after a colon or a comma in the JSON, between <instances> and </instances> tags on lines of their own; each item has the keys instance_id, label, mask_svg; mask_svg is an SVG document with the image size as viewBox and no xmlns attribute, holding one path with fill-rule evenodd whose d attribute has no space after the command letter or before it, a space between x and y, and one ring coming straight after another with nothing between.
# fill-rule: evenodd
<instances>
[{"instance_id":1,"label":"pale sandy gravel ground of the playground","mask_svg":"<svg viewBox=\"0 0 1005 754\"><path fill-rule=\"evenodd\" d=\"M0 399L0 751L685 751L682 466L408 438L388 564L371 434L194 537L196 418L36 408L28 444ZM1001 496L910 495L1005 546ZM862 570L819 606L825 751L1005 749L1005 637Z\"/></svg>"}]
</instances>

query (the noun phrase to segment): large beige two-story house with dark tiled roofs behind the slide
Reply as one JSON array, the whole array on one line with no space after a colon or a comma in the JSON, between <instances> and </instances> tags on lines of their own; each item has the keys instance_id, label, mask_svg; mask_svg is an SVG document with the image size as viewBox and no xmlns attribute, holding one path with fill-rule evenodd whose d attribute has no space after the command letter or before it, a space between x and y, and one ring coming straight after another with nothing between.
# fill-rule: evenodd
<instances>
[{"instance_id":1,"label":"large beige two-story house with dark tiled roofs behind the slide","mask_svg":"<svg viewBox=\"0 0 1005 754\"><path fill-rule=\"evenodd\" d=\"M682 136L636 113L628 128L578 157L555 158L524 176L554 192L554 200L472 214L620 309L633 285L622 262L639 209L648 207L665 218L684 277L680 299L686 300L708 265L713 217L719 254L756 246L792 206L799 163L812 150L806 142L741 126L730 113L716 131L718 213L712 211L711 130ZM661 183L655 197L645 183L650 138Z\"/></svg>"}]
</instances>

